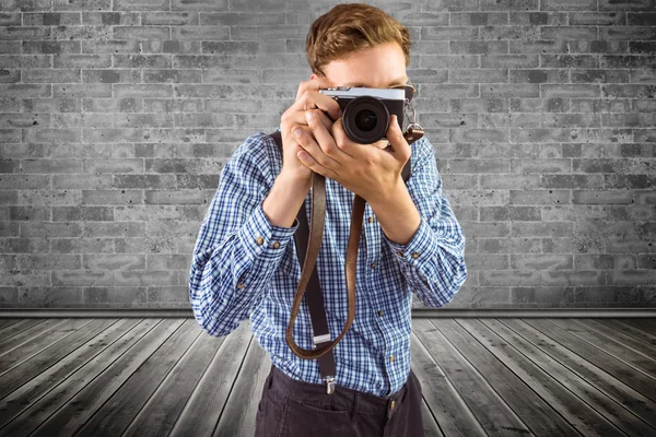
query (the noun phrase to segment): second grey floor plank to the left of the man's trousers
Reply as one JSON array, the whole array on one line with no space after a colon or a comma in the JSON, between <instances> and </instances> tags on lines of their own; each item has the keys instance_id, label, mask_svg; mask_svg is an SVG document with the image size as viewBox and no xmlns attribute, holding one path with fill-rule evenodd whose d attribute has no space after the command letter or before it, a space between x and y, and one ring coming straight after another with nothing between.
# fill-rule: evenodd
<instances>
[{"instance_id":1,"label":"second grey floor plank to the left of the man's trousers","mask_svg":"<svg viewBox=\"0 0 656 437\"><path fill-rule=\"evenodd\" d=\"M245 320L226 335L214 359L196 386L169 437L211 436L219 423L221 412L229 402L229 395L239 371L239 367L253 339L249 320ZM270 359L269 359L270 362ZM267 374L258 376L262 380ZM262 386L259 391L261 393Z\"/></svg>"}]
</instances>

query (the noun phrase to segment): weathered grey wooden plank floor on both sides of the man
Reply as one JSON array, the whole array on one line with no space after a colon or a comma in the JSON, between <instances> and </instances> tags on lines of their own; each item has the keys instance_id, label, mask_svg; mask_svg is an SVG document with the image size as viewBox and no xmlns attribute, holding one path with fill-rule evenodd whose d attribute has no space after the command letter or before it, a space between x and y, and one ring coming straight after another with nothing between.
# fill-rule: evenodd
<instances>
[{"instance_id":1,"label":"weathered grey wooden plank floor on both sides of the man","mask_svg":"<svg viewBox=\"0 0 656 437\"><path fill-rule=\"evenodd\" d=\"M656 319L413 318L426 436L656 436ZM245 320L0 319L0 435L253 436Z\"/></svg>"}]
</instances>

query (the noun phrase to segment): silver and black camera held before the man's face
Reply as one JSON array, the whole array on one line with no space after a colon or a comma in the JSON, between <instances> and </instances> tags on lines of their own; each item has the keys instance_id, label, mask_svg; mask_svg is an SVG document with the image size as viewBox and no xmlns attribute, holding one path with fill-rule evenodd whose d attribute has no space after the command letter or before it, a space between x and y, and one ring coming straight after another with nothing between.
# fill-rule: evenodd
<instances>
[{"instance_id":1,"label":"silver and black camera held before the man's face","mask_svg":"<svg viewBox=\"0 0 656 437\"><path fill-rule=\"evenodd\" d=\"M403 126L406 92L399 88L338 86L319 90L335 98L342 110L344 132L351 141L372 144L386 140L389 118L396 114L399 128Z\"/></svg>"}]
</instances>

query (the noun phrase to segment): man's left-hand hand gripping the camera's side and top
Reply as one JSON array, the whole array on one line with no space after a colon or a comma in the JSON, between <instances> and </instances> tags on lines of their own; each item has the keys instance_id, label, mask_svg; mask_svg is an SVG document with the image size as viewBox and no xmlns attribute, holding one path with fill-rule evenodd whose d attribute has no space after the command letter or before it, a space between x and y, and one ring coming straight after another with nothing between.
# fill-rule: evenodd
<instances>
[{"instance_id":1,"label":"man's left-hand hand gripping the camera's side and top","mask_svg":"<svg viewBox=\"0 0 656 437\"><path fill-rule=\"evenodd\" d=\"M339 104L330 96L318 92L320 88L330 87L328 79L314 76L309 81L301 82L296 92L296 101L283 114L280 123L282 135L282 172L291 175L295 180L306 182L309 186L313 170L304 166L297 157L303 150L293 135L293 131L300 129L305 134L309 134L309 127L305 118L305 110L319 108L317 110L318 120L326 129L330 129L332 121L324 114L328 113L333 120L337 120L341 110Z\"/></svg>"}]
</instances>

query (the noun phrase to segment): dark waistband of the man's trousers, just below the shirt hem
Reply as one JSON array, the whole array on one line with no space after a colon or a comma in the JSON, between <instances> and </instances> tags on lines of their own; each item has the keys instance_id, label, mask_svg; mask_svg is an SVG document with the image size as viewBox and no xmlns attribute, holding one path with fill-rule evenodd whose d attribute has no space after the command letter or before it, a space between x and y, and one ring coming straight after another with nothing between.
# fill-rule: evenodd
<instances>
[{"instance_id":1,"label":"dark waistband of the man's trousers, just below the shirt hem","mask_svg":"<svg viewBox=\"0 0 656 437\"><path fill-rule=\"evenodd\" d=\"M394 409L395 405L400 403L408 391L408 381L406 381L403 387L396 393L385 398L364 391L353 390L336 383L335 392L328 394L326 392L325 383L300 381L288 376L273 364L271 364L267 383L269 385L270 392L277 397L277 399L284 399L285 395L291 394L292 398L296 400L305 398L313 399L314 401L325 400L344 409L351 409L355 400L358 400L358 410L360 412L375 414L384 414L387 410L390 410L390 406Z\"/></svg>"}]
</instances>

